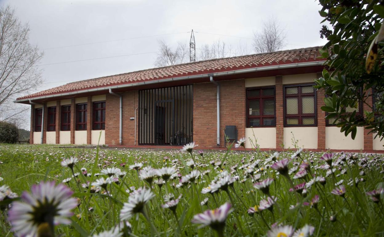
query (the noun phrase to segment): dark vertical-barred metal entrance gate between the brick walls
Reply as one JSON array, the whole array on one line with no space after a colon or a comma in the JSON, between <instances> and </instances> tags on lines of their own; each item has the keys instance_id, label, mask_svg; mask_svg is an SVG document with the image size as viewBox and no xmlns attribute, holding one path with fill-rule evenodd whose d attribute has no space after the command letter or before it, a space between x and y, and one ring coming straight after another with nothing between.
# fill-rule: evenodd
<instances>
[{"instance_id":1,"label":"dark vertical-barred metal entrance gate between the brick walls","mask_svg":"<svg viewBox=\"0 0 384 237\"><path fill-rule=\"evenodd\" d=\"M192 85L139 91L139 145L193 141Z\"/></svg>"}]
</instances>

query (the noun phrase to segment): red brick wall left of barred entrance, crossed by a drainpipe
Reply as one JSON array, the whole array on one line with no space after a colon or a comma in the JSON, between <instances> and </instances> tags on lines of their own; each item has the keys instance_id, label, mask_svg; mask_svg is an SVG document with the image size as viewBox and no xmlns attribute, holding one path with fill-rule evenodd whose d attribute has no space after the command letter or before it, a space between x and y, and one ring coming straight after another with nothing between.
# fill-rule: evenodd
<instances>
[{"instance_id":1,"label":"red brick wall left of barred entrance, crossed by a drainpipe","mask_svg":"<svg viewBox=\"0 0 384 237\"><path fill-rule=\"evenodd\" d=\"M138 91L127 91L121 93L122 98L122 144L134 145L135 123L138 121L130 120L135 117L135 109L138 107ZM106 124L105 124L105 143L109 145L119 144L119 113L120 98L112 94L106 95ZM136 110L137 113L137 110ZM137 115L137 114L136 114ZM138 117L136 117L138 120ZM138 144L138 124L136 124L136 145Z\"/></svg>"}]
</instances>

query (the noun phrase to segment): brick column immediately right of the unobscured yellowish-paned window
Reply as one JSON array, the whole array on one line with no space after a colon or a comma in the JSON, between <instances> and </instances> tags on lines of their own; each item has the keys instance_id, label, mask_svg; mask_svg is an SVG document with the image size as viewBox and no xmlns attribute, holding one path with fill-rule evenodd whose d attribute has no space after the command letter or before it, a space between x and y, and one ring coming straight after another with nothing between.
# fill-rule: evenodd
<instances>
[{"instance_id":1,"label":"brick column immediately right of the unobscured yellowish-paned window","mask_svg":"<svg viewBox=\"0 0 384 237\"><path fill-rule=\"evenodd\" d=\"M322 77L322 73L318 72L316 78ZM324 90L317 90L317 149L325 150L325 112L320 109L324 106Z\"/></svg>"}]
</instances>

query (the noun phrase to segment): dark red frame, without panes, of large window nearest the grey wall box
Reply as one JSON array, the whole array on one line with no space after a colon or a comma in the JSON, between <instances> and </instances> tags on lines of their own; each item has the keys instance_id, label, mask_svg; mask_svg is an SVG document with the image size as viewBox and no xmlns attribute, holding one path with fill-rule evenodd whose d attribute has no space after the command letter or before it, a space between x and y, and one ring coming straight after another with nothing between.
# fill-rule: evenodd
<instances>
[{"instance_id":1,"label":"dark red frame, without panes, of large window nearest the grey wall box","mask_svg":"<svg viewBox=\"0 0 384 237\"><path fill-rule=\"evenodd\" d=\"M273 89L273 95L263 95L263 90L265 89ZM258 96L252 96L250 94L251 91L259 90L259 95ZM270 115L264 115L264 101L265 100L271 100L273 99L273 106L274 106L274 111L273 114ZM253 100L258 100L259 101L259 111L260 115L250 115L249 114L249 105L250 101ZM255 87L255 88L248 88L247 89L247 128L250 128L250 119L260 119L260 125L257 127L275 127L276 126L276 88L275 86L268 86L268 87ZM273 118L273 123L271 125L263 125L263 119L271 119Z\"/></svg>"}]
</instances>

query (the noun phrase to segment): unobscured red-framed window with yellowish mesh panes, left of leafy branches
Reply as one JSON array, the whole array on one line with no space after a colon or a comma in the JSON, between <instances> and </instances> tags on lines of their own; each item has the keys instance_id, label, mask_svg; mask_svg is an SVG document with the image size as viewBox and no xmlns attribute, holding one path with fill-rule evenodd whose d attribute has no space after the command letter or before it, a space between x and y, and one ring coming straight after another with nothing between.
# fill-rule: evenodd
<instances>
[{"instance_id":1,"label":"unobscured red-framed window with yellowish mesh panes, left of leafy branches","mask_svg":"<svg viewBox=\"0 0 384 237\"><path fill-rule=\"evenodd\" d=\"M284 86L284 126L316 126L314 84Z\"/></svg>"}]
</instances>

